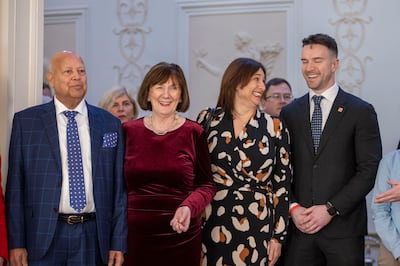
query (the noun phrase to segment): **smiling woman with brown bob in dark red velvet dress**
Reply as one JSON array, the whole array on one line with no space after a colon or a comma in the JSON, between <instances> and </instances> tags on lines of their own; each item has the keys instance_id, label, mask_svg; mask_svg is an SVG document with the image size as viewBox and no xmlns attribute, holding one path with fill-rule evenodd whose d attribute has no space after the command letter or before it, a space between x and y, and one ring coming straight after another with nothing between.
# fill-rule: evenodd
<instances>
[{"instance_id":1,"label":"smiling woman with brown bob in dark red velvet dress","mask_svg":"<svg viewBox=\"0 0 400 266\"><path fill-rule=\"evenodd\" d=\"M200 214L215 185L205 132L177 112L189 108L182 69L159 63L144 77L138 104L148 116L123 124L128 188L125 265L199 265Z\"/></svg>"}]
</instances>

